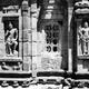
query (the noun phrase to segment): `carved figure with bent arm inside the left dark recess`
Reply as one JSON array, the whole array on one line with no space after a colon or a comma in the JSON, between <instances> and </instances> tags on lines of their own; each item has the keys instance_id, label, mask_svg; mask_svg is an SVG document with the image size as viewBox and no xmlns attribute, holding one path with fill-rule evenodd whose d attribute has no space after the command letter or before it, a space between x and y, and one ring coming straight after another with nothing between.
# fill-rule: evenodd
<instances>
[{"instance_id":1,"label":"carved figure with bent arm inside the left dark recess","mask_svg":"<svg viewBox=\"0 0 89 89\"><path fill-rule=\"evenodd\" d=\"M6 32L6 52L7 55L14 55L18 44L18 30L13 28L12 23L9 22L9 29Z\"/></svg>"}]
</instances>

